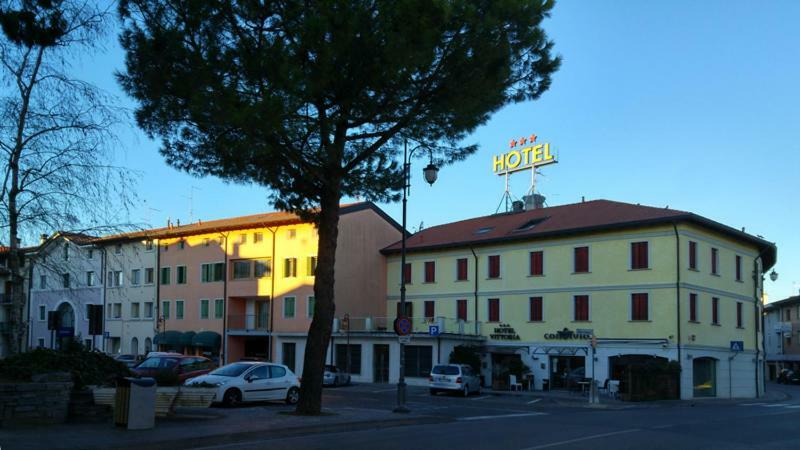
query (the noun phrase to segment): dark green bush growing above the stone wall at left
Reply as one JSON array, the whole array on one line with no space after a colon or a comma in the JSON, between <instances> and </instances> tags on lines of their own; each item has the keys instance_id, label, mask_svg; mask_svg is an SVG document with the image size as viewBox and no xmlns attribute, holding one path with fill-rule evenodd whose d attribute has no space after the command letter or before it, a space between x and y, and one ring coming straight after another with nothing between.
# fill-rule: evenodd
<instances>
[{"instance_id":1,"label":"dark green bush growing above the stone wall at left","mask_svg":"<svg viewBox=\"0 0 800 450\"><path fill-rule=\"evenodd\" d=\"M117 377L131 376L128 367L98 351L87 350L80 343L68 344L62 350L37 348L0 360L0 378L31 381L37 374L69 372L75 389L87 385L111 386Z\"/></svg>"}]
</instances>

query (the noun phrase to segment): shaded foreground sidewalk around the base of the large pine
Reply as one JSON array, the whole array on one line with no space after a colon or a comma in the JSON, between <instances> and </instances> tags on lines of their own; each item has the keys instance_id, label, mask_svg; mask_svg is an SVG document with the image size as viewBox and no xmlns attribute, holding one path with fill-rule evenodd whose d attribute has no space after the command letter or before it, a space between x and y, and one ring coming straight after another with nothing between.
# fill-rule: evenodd
<instances>
[{"instance_id":1,"label":"shaded foreground sidewalk around the base of the large pine","mask_svg":"<svg viewBox=\"0 0 800 450\"><path fill-rule=\"evenodd\" d=\"M305 417L286 414L293 408L259 405L237 409L182 408L175 417L157 419L151 430L125 430L111 421L51 427L2 429L3 449L137 449L159 450L222 445L269 434L270 437L352 431L416 423L440 423L441 417L398 416L391 411L339 408L328 415ZM190 430L190 431L187 431Z\"/></svg>"}]
</instances>

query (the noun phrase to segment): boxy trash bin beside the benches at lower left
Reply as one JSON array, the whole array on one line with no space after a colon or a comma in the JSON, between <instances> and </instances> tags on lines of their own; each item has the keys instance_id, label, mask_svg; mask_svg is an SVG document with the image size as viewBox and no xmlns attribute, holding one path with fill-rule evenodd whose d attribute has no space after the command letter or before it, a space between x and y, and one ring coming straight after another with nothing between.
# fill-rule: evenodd
<instances>
[{"instance_id":1,"label":"boxy trash bin beside the benches at lower left","mask_svg":"<svg viewBox=\"0 0 800 450\"><path fill-rule=\"evenodd\" d=\"M153 428L156 419L156 380L122 377L117 379L114 424L129 430Z\"/></svg>"}]
</instances>

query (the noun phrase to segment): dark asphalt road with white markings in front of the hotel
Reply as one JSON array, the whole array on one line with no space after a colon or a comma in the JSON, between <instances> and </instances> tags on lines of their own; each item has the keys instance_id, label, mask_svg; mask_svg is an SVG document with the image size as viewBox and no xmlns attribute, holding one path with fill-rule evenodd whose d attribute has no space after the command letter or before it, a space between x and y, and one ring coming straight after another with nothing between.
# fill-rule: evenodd
<instances>
[{"instance_id":1,"label":"dark asphalt road with white markings in front of the hotel","mask_svg":"<svg viewBox=\"0 0 800 450\"><path fill-rule=\"evenodd\" d=\"M268 437L206 449L694 449L800 448L800 386L791 400L690 402L621 410L565 406L530 396L431 397L409 389L414 425L346 433ZM386 411L393 386L362 385L325 392L332 410Z\"/></svg>"}]
</instances>

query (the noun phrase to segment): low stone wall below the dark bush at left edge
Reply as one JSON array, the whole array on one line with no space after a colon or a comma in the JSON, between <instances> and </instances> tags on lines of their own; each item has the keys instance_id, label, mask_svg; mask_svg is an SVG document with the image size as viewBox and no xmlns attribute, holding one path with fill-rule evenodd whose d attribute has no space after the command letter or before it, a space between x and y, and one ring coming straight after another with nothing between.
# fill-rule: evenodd
<instances>
[{"instance_id":1,"label":"low stone wall below the dark bush at left edge","mask_svg":"<svg viewBox=\"0 0 800 450\"><path fill-rule=\"evenodd\" d=\"M0 428L63 423L71 381L0 383Z\"/></svg>"}]
</instances>

